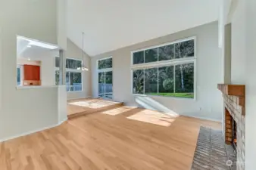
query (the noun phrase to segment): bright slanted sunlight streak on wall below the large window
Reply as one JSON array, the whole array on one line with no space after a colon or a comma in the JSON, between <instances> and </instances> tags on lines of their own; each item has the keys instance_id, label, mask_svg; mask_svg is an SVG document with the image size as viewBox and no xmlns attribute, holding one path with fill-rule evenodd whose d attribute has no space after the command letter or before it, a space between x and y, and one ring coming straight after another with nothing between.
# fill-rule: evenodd
<instances>
[{"instance_id":1,"label":"bright slanted sunlight streak on wall below the large window","mask_svg":"<svg viewBox=\"0 0 256 170\"><path fill-rule=\"evenodd\" d=\"M173 110L170 110L169 108L165 107L163 104L160 104L158 101L152 99L151 97L136 96L135 100L136 103L139 104L139 106L144 107L145 109L158 110L161 112L168 113L171 116L179 116L178 113L174 112Z\"/></svg>"}]
</instances>

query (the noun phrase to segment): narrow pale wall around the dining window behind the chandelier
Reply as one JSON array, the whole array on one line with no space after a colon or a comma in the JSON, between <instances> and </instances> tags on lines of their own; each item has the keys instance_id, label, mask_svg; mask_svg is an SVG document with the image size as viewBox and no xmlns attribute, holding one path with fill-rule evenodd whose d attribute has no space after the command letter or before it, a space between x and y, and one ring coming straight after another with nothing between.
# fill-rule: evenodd
<instances>
[{"instance_id":1,"label":"narrow pale wall around the dining window behind the chandelier","mask_svg":"<svg viewBox=\"0 0 256 170\"><path fill-rule=\"evenodd\" d=\"M81 34L82 40L82 34ZM67 58L83 60L82 50L78 48L70 39L67 39ZM67 92L67 99L84 98L91 96L91 58L88 54L84 53L85 66L89 68L89 71L83 72L83 91L70 91Z\"/></svg>"}]
</instances>

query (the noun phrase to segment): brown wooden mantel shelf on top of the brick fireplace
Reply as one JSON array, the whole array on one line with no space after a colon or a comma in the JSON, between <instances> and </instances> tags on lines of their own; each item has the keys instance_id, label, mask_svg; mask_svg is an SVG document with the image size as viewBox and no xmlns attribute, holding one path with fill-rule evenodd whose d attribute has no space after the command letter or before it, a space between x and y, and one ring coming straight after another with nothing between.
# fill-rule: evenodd
<instances>
[{"instance_id":1,"label":"brown wooden mantel shelf on top of the brick fireplace","mask_svg":"<svg viewBox=\"0 0 256 170\"><path fill-rule=\"evenodd\" d=\"M218 89L229 96L245 97L245 85L218 84Z\"/></svg>"}]
</instances>

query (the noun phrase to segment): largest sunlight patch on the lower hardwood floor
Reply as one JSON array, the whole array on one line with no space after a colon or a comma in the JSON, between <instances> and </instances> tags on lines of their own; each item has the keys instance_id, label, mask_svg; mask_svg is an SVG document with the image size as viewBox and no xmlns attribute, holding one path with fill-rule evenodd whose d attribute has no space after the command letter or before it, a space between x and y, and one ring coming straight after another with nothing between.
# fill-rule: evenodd
<instances>
[{"instance_id":1,"label":"largest sunlight patch on the lower hardwood floor","mask_svg":"<svg viewBox=\"0 0 256 170\"><path fill-rule=\"evenodd\" d=\"M175 121L176 117L177 116L170 116L168 113L161 113L155 110L142 110L127 118L155 125L170 126Z\"/></svg>"}]
</instances>

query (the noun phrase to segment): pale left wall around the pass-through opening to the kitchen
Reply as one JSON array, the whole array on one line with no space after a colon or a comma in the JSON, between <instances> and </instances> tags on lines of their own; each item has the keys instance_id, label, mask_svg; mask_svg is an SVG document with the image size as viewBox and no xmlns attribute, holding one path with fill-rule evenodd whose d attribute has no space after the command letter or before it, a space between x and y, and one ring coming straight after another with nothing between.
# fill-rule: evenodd
<instances>
[{"instance_id":1,"label":"pale left wall around the pass-through opening to the kitchen","mask_svg":"<svg viewBox=\"0 0 256 170\"><path fill-rule=\"evenodd\" d=\"M0 2L0 140L58 124L58 88L17 89L17 35L57 43L56 1ZM14 12L15 11L15 12Z\"/></svg>"}]
</instances>

